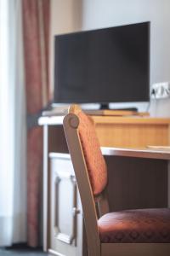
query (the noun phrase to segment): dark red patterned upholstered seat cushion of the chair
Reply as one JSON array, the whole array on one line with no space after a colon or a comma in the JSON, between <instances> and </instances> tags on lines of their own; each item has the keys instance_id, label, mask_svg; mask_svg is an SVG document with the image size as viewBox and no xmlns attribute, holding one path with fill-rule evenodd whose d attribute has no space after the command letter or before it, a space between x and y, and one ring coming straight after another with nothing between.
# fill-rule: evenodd
<instances>
[{"instance_id":1,"label":"dark red patterned upholstered seat cushion of the chair","mask_svg":"<svg viewBox=\"0 0 170 256\"><path fill-rule=\"evenodd\" d=\"M170 242L170 209L138 209L110 212L99 218L103 243Z\"/></svg>"}]
</instances>

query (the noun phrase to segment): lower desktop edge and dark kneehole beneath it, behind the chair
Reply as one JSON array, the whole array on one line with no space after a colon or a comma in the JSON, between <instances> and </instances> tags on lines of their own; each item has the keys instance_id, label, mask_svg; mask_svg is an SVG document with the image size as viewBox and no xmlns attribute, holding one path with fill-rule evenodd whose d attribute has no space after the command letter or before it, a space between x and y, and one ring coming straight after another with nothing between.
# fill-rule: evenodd
<instances>
[{"instance_id":1,"label":"lower desktop edge and dark kneehole beneath it, behind the chair","mask_svg":"<svg viewBox=\"0 0 170 256\"><path fill-rule=\"evenodd\" d=\"M170 207L170 150L101 147L112 211Z\"/></svg>"}]
</instances>

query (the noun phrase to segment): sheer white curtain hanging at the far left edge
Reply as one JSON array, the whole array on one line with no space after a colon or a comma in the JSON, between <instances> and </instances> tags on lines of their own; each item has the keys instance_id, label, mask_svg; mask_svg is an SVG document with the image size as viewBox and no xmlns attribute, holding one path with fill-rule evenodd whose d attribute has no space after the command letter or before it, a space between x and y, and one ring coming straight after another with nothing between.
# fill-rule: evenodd
<instances>
[{"instance_id":1,"label":"sheer white curtain hanging at the far left edge","mask_svg":"<svg viewBox=\"0 0 170 256\"><path fill-rule=\"evenodd\" d=\"M0 0L0 246L26 241L21 0Z\"/></svg>"}]
</instances>

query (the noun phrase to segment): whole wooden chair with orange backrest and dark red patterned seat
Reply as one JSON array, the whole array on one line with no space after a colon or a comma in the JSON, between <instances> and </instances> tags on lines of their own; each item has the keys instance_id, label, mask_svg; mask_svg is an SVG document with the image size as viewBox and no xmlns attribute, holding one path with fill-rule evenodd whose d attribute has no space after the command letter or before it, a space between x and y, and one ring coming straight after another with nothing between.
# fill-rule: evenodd
<instances>
[{"instance_id":1,"label":"whole wooden chair with orange backrest and dark red patterned seat","mask_svg":"<svg viewBox=\"0 0 170 256\"><path fill-rule=\"evenodd\" d=\"M170 209L109 212L107 169L92 119L73 105L64 130L82 201L88 255L170 255Z\"/></svg>"}]
</instances>

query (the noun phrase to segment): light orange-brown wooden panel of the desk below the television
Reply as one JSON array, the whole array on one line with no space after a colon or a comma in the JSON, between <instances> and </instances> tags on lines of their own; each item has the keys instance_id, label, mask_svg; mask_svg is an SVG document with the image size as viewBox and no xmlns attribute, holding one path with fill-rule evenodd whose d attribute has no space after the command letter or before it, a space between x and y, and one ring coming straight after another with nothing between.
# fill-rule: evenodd
<instances>
[{"instance_id":1,"label":"light orange-brown wooden panel of the desk below the television","mask_svg":"<svg viewBox=\"0 0 170 256\"><path fill-rule=\"evenodd\" d=\"M145 147L170 143L170 119L94 116L99 143L105 147Z\"/></svg>"}]
</instances>

